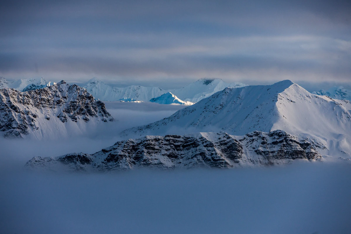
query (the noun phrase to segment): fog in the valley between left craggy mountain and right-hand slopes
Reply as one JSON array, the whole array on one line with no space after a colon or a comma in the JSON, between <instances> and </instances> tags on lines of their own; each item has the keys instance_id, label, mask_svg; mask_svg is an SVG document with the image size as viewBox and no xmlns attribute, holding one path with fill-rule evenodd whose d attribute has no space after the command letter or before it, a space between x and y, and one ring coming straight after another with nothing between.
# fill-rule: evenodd
<instances>
[{"instance_id":1,"label":"fog in the valley between left craggy mountain and right-hand slopes","mask_svg":"<svg viewBox=\"0 0 351 234\"><path fill-rule=\"evenodd\" d=\"M161 105L152 102L106 102L106 109L115 121L91 129L84 135L68 136L58 139L4 139L0 132L0 164L8 166L14 163L23 166L34 156L60 156L73 152L95 153L120 140L119 133L127 128L144 125L166 118L181 105Z\"/></svg>"}]
</instances>

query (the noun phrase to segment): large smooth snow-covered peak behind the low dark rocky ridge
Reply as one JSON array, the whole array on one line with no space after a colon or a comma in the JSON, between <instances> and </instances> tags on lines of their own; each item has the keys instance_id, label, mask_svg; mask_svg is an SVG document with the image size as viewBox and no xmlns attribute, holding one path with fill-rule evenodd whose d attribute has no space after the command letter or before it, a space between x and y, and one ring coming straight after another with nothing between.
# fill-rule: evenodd
<instances>
[{"instance_id":1,"label":"large smooth snow-covered peak behind the low dark rocky ridge","mask_svg":"<svg viewBox=\"0 0 351 234\"><path fill-rule=\"evenodd\" d=\"M122 132L145 135L283 130L325 146L323 155L351 155L351 102L307 92L285 80L267 86L225 88L163 120Z\"/></svg>"}]
</instances>

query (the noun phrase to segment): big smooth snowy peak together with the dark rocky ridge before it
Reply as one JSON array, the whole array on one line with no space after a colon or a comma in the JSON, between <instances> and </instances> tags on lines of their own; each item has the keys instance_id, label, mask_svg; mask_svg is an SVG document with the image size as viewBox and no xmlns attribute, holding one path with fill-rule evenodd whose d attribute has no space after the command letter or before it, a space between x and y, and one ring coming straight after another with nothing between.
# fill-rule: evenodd
<instances>
[{"instance_id":1,"label":"big smooth snowy peak together with the dark rocky ridge before it","mask_svg":"<svg viewBox=\"0 0 351 234\"><path fill-rule=\"evenodd\" d=\"M26 167L113 171L281 165L351 158L351 102L309 93L290 80L225 88L95 154L34 157Z\"/></svg>"}]
</instances>

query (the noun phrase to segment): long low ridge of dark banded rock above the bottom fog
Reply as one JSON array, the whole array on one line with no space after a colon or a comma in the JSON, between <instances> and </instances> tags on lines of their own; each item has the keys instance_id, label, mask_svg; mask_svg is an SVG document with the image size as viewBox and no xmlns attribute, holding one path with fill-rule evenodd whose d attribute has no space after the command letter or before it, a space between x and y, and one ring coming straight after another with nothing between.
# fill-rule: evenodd
<instances>
[{"instance_id":1,"label":"long low ridge of dark banded rock above the bottom fog","mask_svg":"<svg viewBox=\"0 0 351 234\"><path fill-rule=\"evenodd\" d=\"M321 160L311 142L284 131L146 136L119 141L95 154L34 157L26 167L54 171L114 171L143 167L162 169L282 165L293 160ZM318 146L320 147L320 146Z\"/></svg>"}]
</instances>

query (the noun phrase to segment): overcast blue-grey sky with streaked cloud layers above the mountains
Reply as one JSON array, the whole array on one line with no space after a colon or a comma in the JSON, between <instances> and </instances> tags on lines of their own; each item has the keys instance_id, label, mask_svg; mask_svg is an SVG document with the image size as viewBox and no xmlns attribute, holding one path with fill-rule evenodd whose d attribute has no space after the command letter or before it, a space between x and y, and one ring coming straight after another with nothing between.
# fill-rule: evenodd
<instances>
[{"instance_id":1,"label":"overcast blue-grey sky with streaked cloud layers above the mountains","mask_svg":"<svg viewBox=\"0 0 351 234\"><path fill-rule=\"evenodd\" d=\"M264 3L263 3L264 2ZM351 83L351 1L2 1L0 75Z\"/></svg>"}]
</instances>

